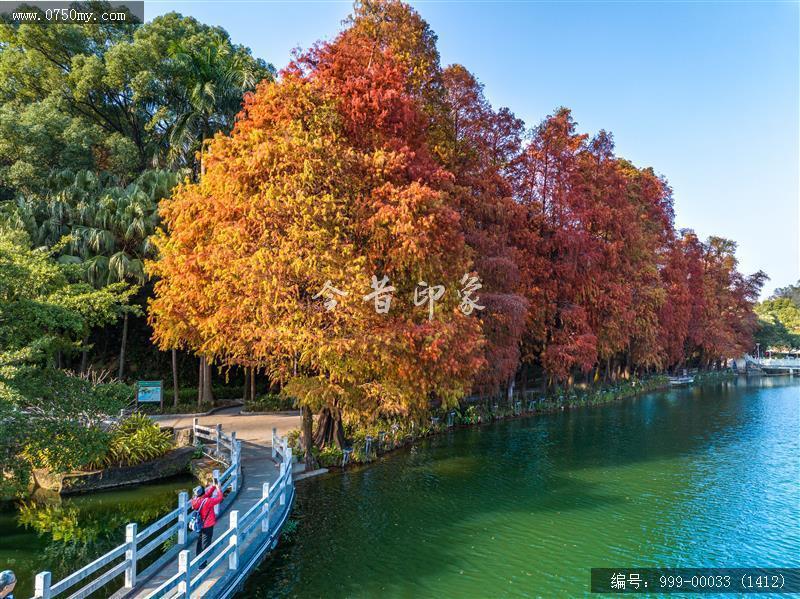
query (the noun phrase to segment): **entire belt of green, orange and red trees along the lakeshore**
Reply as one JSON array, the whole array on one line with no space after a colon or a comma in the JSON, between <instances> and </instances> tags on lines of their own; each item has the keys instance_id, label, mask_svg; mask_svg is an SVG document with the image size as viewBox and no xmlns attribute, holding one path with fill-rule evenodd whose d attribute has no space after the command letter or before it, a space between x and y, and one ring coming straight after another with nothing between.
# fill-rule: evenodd
<instances>
[{"instance_id":1,"label":"entire belt of green, orange and red trees along the lakeshore","mask_svg":"<svg viewBox=\"0 0 800 599\"><path fill-rule=\"evenodd\" d=\"M139 420L138 449L109 449L137 379L167 412L299 407L313 465L473 393L601 401L718 366L753 347L765 280L676 230L666 179L610 133L492 107L395 1L357 2L280 75L176 13L0 25L0 201L2 496L162 447ZM765 329L800 332L787 309L759 308Z\"/></svg>"}]
</instances>

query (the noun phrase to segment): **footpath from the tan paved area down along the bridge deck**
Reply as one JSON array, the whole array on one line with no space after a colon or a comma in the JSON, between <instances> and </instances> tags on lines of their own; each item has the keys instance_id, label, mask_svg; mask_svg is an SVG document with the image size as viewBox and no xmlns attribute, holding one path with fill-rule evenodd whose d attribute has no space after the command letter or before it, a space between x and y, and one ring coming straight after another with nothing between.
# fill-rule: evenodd
<instances>
[{"instance_id":1,"label":"footpath from the tan paved area down along the bridge deck","mask_svg":"<svg viewBox=\"0 0 800 599\"><path fill-rule=\"evenodd\" d=\"M278 478L278 465L272 459L272 429L277 429L278 434L281 436L300 425L299 413L277 413L277 414L240 414L241 407L228 408L210 416L203 416L199 418L199 423L205 426L213 426L221 424L225 430L236 431L236 437L242 442L242 486L239 494L236 496L233 503L225 506L220 513L219 521L214 530L214 538L220 532L228 527L228 514L231 511L238 510L240 515L244 514L251 506L258 502L262 495L262 487L264 483L272 484ZM154 420L158 421L163 426L172 426L174 428L191 427L194 418L191 416L155 416ZM248 561L257 563L265 549L258 547L255 535L248 538L241 548L240 562L242 565L247 564ZM189 547L191 554L190 559L195 556L195 543ZM231 572L228 569L227 561L219 564L210 576L203 581L203 583L192 592L192 597L206 597L211 596L208 590L211 589L215 583L221 582L221 587L225 589L223 594L216 594L218 597L232 596L236 588L241 584L237 575L242 572L249 572L250 568L240 568L238 572ZM129 593L125 594L126 598L145 598L148 597L155 589L157 589L164 581L173 577L178 571L177 560L167 564L154 576L148 580L141 581ZM223 578L230 580L221 581Z\"/></svg>"}]
</instances>

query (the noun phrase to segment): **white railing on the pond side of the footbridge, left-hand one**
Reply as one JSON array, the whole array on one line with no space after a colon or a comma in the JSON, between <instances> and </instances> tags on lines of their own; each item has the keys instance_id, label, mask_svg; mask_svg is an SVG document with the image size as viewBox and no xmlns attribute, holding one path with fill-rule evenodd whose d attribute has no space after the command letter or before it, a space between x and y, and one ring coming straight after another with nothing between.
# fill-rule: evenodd
<instances>
[{"instance_id":1,"label":"white railing on the pond side of the footbridge, left-hand one","mask_svg":"<svg viewBox=\"0 0 800 599\"><path fill-rule=\"evenodd\" d=\"M195 442L204 440L211 442L213 454L209 453L209 446L204 446L204 453L228 466L222 475L217 470L214 476L219 480L223 492L230 489L225 497L226 502L233 501L240 487L241 479L241 442L236 440L236 433L230 435L222 431L222 426L214 428L199 426L194 420L193 433ZM189 500L185 491L178 495L178 507L170 513L159 518L142 531L138 530L135 522L125 527L125 542L84 566L69 576L52 582L50 572L40 572L36 575L34 599L51 599L67 591L69 599L83 599L94 593L97 589L107 585L114 578L125 574L125 581L120 593L133 589L138 578L145 578L158 571L164 564L175 557L175 554L185 547L188 542L188 513L190 512ZM150 553L158 549L165 541L176 537L176 544L166 551L147 568L139 571L139 562ZM80 586L79 586L80 585ZM75 588L77 587L77 588Z\"/></svg>"}]
</instances>

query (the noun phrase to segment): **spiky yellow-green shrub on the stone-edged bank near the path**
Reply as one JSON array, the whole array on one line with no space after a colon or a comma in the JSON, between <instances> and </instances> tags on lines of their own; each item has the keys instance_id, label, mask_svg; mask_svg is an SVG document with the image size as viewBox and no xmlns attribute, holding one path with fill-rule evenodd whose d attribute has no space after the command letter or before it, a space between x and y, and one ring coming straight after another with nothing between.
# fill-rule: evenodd
<instances>
[{"instance_id":1,"label":"spiky yellow-green shrub on the stone-edged bank near the path","mask_svg":"<svg viewBox=\"0 0 800 599\"><path fill-rule=\"evenodd\" d=\"M144 414L133 414L111 430L103 465L133 466L161 457L174 447L172 435Z\"/></svg>"}]
</instances>

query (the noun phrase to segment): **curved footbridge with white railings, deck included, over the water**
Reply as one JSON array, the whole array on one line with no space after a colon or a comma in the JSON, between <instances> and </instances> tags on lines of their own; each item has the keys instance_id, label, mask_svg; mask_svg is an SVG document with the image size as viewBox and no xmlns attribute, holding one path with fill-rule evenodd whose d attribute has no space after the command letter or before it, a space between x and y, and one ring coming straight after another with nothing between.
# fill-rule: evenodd
<instances>
[{"instance_id":1,"label":"curved footbridge with white railings, deck included, over the water","mask_svg":"<svg viewBox=\"0 0 800 599\"><path fill-rule=\"evenodd\" d=\"M227 466L218 478L227 493L220 514L229 512L228 524L220 516L211 545L195 555L197 533L188 530L191 509L182 492L176 509L142 530L128 524L125 542L92 563L59 581L50 572L37 574L34 599L83 599L100 589L112 599L227 599L236 593L277 544L291 512L292 450L275 429L271 448L242 446L235 432L200 426L196 418L192 429L204 453ZM156 550L162 555L143 568L142 559ZM201 570L203 562L208 566Z\"/></svg>"}]
</instances>

